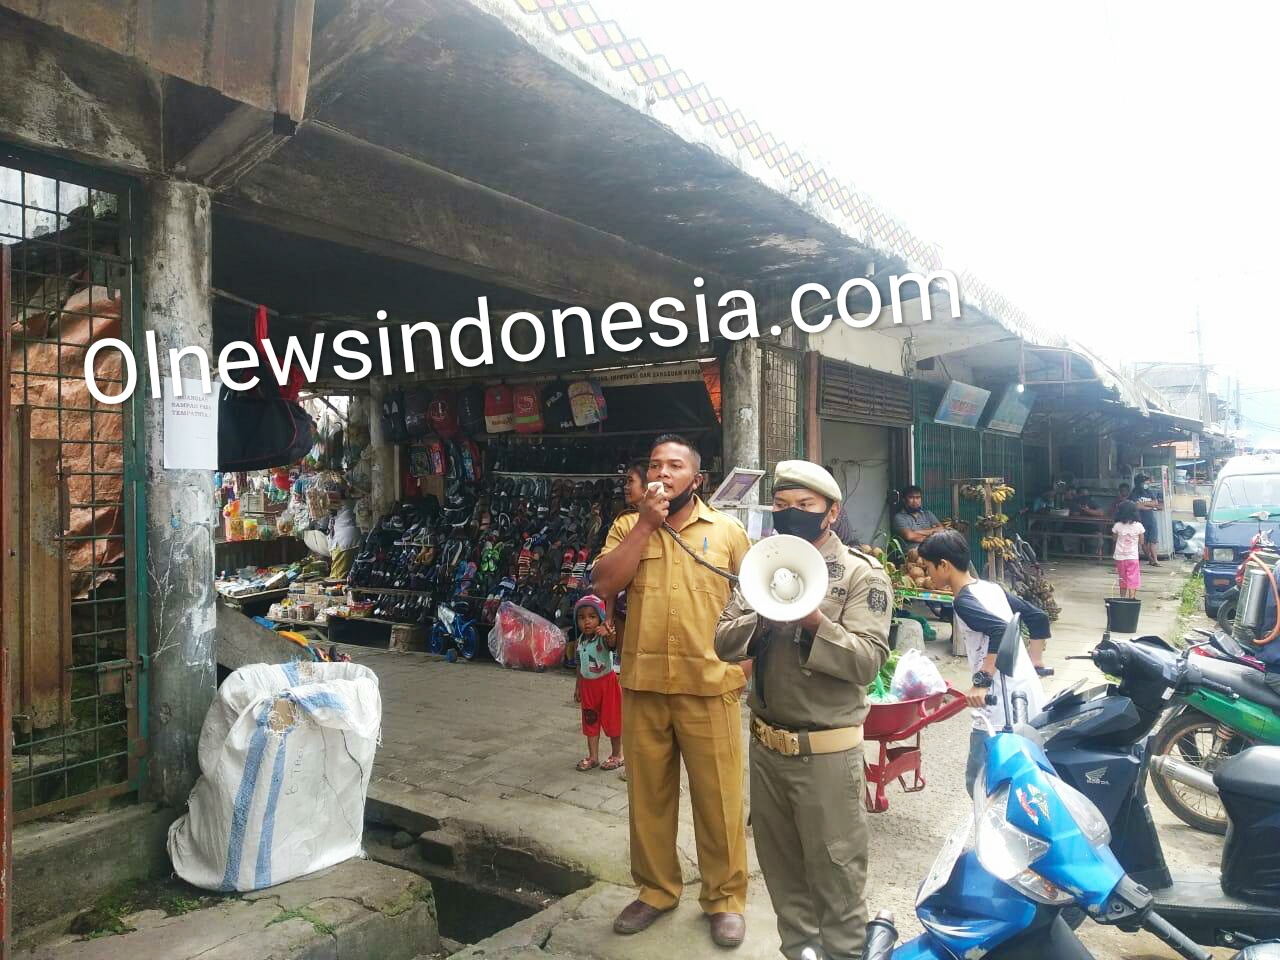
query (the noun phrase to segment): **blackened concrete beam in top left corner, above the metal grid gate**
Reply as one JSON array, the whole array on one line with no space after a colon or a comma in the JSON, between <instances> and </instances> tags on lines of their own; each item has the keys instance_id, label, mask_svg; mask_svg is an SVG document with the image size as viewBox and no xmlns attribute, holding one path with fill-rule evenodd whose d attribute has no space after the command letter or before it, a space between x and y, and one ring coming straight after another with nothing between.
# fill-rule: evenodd
<instances>
[{"instance_id":1,"label":"blackened concrete beam in top left corner, above the metal grid gate","mask_svg":"<svg viewBox=\"0 0 1280 960\"><path fill-rule=\"evenodd\" d=\"M0 8L0 140L128 173L164 156L160 74Z\"/></svg>"}]
</instances>

